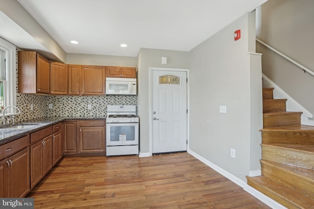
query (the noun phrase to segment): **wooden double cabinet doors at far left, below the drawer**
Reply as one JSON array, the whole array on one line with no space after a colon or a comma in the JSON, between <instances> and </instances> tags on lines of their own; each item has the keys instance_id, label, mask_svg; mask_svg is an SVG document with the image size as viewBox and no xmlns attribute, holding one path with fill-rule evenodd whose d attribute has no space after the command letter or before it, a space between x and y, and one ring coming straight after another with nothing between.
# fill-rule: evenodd
<instances>
[{"instance_id":1,"label":"wooden double cabinet doors at far left, below the drawer","mask_svg":"<svg viewBox=\"0 0 314 209\"><path fill-rule=\"evenodd\" d=\"M29 147L0 162L0 197L24 197L29 187Z\"/></svg>"}]
</instances>

